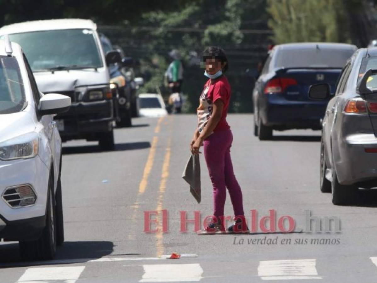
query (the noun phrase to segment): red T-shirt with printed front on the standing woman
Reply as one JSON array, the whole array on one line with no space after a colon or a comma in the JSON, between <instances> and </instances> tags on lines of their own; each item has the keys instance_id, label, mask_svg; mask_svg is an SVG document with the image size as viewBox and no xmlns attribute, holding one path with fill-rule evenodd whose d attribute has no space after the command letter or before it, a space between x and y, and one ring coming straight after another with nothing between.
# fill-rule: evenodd
<instances>
[{"instance_id":1,"label":"red T-shirt with printed front on the standing woman","mask_svg":"<svg viewBox=\"0 0 377 283\"><path fill-rule=\"evenodd\" d=\"M201 133L205 125L207 125L208 119L212 115L213 103L215 103L215 101L218 99L222 100L224 103L224 108L222 110L221 119L213 132L227 130L230 128L226 120L230 95L230 84L227 77L224 75L216 80L214 84L211 84L211 80L208 80L207 83L205 83L204 89L200 95L200 104L197 109L199 133Z\"/></svg>"}]
</instances>

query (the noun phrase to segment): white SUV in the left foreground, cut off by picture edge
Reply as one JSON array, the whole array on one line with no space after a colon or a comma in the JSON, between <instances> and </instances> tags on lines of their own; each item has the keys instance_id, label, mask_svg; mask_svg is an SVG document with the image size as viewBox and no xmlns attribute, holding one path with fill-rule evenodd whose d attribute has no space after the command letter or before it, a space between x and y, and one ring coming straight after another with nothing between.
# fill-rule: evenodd
<instances>
[{"instance_id":1,"label":"white SUV in the left foreground, cut off by picture edge","mask_svg":"<svg viewBox=\"0 0 377 283\"><path fill-rule=\"evenodd\" d=\"M39 92L21 47L0 40L0 239L19 241L24 259L52 259L64 241L53 116L70 103Z\"/></svg>"}]
</instances>

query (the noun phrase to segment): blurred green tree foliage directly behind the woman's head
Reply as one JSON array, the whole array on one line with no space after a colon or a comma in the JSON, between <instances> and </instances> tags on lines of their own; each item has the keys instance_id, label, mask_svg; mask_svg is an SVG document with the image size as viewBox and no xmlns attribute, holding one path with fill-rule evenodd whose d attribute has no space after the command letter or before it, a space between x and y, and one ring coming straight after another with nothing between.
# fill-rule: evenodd
<instances>
[{"instance_id":1,"label":"blurred green tree foliage directly behind the woman's head","mask_svg":"<svg viewBox=\"0 0 377 283\"><path fill-rule=\"evenodd\" d=\"M114 34L112 38L137 39L117 43L142 58L141 73L147 73L150 80L141 92L155 92L158 87L165 99L169 95L163 86L164 72L171 61L168 53L180 50L184 62L183 92L189 99L189 112L195 111L206 81L199 64L202 50L209 45L223 47L230 62L227 76L233 89L230 111L251 112L253 79L245 76L245 69L255 67L266 52L269 31L265 5L265 0L202 0L177 11L150 11L137 23L123 26L123 35ZM253 32L254 29L262 33Z\"/></svg>"}]
</instances>

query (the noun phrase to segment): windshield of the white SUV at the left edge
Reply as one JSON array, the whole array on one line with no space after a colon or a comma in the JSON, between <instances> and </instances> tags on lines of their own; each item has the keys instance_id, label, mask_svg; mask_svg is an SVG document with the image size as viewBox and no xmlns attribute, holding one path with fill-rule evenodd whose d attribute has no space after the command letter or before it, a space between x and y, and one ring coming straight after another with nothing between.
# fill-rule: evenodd
<instances>
[{"instance_id":1,"label":"windshield of the white SUV at the left edge","mask_svg":"<svg viewBox=\"0 0 377 283\"><path fill-rule=\"evenodd\" d=\"M17 60L0 56L0 114L19 112L24 106L26 98Z\"/></svg>"}]
</instances>

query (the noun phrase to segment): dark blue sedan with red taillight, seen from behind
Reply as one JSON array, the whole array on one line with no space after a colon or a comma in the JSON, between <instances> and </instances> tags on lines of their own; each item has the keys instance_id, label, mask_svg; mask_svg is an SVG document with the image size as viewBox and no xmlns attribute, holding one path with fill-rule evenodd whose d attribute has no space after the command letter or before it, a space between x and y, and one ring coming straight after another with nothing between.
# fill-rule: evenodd
<instances>
[{"instance_id":1,"label":"dark blue sedan with red taillight, seen from behind","mask_svg":"<svg viewBox=\"0 0 377 283\"><path fill-rule=\"evenodd\" d=\"M331 97L313 101L313 84L328 83L331 93L348 58L357 50L342 43L290 43L275 46L253 90L254 135L271 139L273 130L320 130Z\"/></svg>"}]
</instances>

